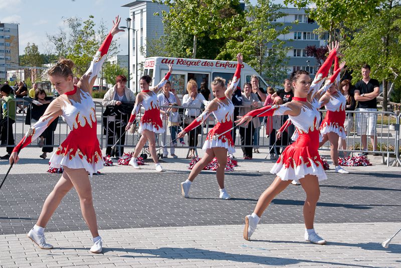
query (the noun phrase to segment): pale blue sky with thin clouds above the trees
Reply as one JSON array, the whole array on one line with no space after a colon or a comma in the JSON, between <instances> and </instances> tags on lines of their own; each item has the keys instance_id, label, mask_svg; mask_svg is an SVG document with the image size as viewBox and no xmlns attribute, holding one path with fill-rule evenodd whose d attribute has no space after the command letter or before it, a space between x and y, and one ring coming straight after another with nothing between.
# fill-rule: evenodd
<instances>
[{"instance_id":1,"label":"pale blue sky with thin clouds above the trees","mask_svg":"<svg viewBox=\"0 0 401 268\"><path fill-rule=\"evenodd\" d=\"M255 4L257 0L251 0ZM41 53L52 51L47 34L59 32L59 28L67 28L64 18L81 17L88 19L94 16L96 25L103 18L106 25L112 26L112 20L120 15L121 26L125 26L125 18L129 16L129 7L121 5L130 0L0 0L0 22L19 23L20 55L29 43L35 43ZM282 3L282 0L275 0ZM128 33L119 33L117 43L120 44L119 54L128 54ZM53 50L54 51L54 50Z\"/></svg>"}]
</instances>

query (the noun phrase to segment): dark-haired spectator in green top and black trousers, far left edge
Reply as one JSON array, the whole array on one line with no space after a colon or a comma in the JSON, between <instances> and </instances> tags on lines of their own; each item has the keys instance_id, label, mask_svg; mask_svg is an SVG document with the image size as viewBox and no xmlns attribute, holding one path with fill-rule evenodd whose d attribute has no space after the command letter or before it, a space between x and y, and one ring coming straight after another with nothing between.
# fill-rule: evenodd
<instances>
[{"instance_id":1,"label":"dark-haired spectator in green top and black trousers, far left edge","mask_svg":"<svg viewBox=\"0 0 401 268\"><path fill-rule=\"evenodd\" d=\"M16 102L14 101L13 88L8 84L0 85L0 93L3 98L3 118L0 120L1 145L14 145L13 123L16 121ZM7 154L0 159L9 159L14 147L7 147Z\"/></svg>"}]
</instances>

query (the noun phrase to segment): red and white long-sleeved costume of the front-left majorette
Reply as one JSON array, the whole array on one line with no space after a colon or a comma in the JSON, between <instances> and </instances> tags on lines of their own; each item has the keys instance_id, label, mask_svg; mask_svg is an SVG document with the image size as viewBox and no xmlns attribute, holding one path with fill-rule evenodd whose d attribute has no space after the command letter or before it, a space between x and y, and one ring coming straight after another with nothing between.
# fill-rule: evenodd
<instances>
[{"instance_id":1,"label":"red and white long-sleeved costume of the front-left majorette","mask_svg":"<svg viewBox=\"0 0 401 268\"><path fill-rule=\"evenodd\" d=\"M50 123L63 116L71 131L49 160L50 167L85 168L92 176L103 168L102 152L97 139L95 103L92 100L92 87L105 60L112 35L109 33L99 51L94 56L89 69L80 78L72 91L53 100L45 113L31 128L32 133L13 151L25 147L38 138Z\"/></svg>"}]
</instances>

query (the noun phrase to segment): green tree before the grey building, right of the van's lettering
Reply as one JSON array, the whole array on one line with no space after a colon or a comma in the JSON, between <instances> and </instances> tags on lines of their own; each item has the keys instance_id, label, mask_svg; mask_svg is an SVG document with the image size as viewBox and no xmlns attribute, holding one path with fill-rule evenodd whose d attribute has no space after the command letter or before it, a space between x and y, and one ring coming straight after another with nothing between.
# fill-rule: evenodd
<instances>
[{"instance_id":1,"label":"green tree before the grey building, right of the van's lettering","mask_svg":"<svg viewBox=\"0 0 401 268\"><path fill-rule=\"evenodd\" d=\"M270 0L258 0L256 5L245 1L248 6L247 24L236 33L235 38L228 41L218 55L221 59L234 59L238 52L244 55L247 62L256 69L272 86L282 82L287 75L284 68L287 61L285 41L278 39L280 34L289 32L290 26L272 22L284 13L279 9L283 6Z\"/></svg>"}]
</instances>

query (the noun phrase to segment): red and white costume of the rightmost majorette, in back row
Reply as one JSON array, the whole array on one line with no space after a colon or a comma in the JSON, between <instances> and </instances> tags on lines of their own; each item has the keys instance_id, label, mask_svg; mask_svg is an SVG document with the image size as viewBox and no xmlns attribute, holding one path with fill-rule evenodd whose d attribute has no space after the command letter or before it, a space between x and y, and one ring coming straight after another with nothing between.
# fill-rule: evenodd
<instances>
[{"instance_id":1,"label":"red and white costume of the rightmost majorette, in back row","mask_svg":"<svg viewBox=\"0 0 401 268\"><path fill-rule=\"evenodd\" d=\"M338 66L338 57L335 58L334 62L334 70L335 73L339 69ZM333 77L332 76L332 77ZM335 81L339 85L340 74L338 73L335 77ZM334 80L333 80L334 81ZM331 84L330 84L331 85ZM345 121L345 105L346 99L344 95L337 90L334 95L330 95L330 100L325 104L326 107L326 116L324 116L322 123L320 124L320 133L322 135L328 132L334 132L341 138L346 138L345 129L344 129L344 121Z\"/></svg>"}]
</instances>

